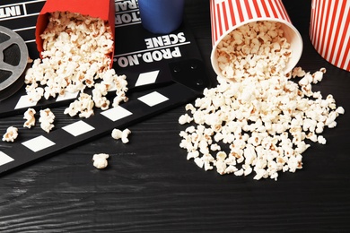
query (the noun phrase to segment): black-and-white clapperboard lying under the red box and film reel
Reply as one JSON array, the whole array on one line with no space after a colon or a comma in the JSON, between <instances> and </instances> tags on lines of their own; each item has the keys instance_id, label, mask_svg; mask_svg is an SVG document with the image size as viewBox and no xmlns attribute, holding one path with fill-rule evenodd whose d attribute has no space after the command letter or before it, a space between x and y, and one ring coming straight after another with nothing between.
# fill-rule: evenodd
<instances>
[{"instance_id":1,"label":"black-and-white clapperboard lying under the red box and film reel","mask_svg":"<svg viewBox=\"0 0 350 233\"><path fill-rule=\"evenodd\" d=\"M35 24L43 0L2 0L0 26L18 33L32 59L39 57L35 44ZM43 131L25 142L15 141L0 151L0 174L45 156L89 142L113 128L144 120L201 96L210 85L197 44L186 21L167 35L154 35L142 27L136 0L115 1L115 56L113 68L126 74L132 98L116 108L75 118L73 124ZM1 43L0 43L1 47ZM22 114L28 108L67 105L77 95L28 102L24 86L0 101L0 117ZM63 140L64 139L64 140Z\"/></svg>"}]
</instances>

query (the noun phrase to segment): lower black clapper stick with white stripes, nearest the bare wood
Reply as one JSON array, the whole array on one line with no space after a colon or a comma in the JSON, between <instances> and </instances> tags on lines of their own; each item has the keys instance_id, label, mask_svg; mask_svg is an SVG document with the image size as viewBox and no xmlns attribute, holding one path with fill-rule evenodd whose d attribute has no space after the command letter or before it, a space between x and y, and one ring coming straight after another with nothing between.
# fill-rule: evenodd
<instances>
[{"instance_id":1,"label":"lower black clapper stick with white stripes, nearest the bare wood","mask_svg":"<svg viewBox=\"0 0 350 233\"><path fill-rule=\"evenodd\" d=\"M102 111L90 118L79 119L49 134L43 132L25 142L14 142L11 149L0 151L0 173L50 154L68 150L103 134L110 134L113 128L125 128L127 125L179 106L197 95L197 91L174 83L154 89L137 99Z\"/></svg>"}]
</instances>

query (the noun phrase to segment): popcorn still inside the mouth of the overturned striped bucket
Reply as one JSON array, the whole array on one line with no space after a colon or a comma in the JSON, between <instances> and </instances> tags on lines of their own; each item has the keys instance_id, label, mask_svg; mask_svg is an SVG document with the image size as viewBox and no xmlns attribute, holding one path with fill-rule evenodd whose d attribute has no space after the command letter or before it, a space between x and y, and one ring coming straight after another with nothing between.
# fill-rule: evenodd
<instances>
[{"instance_id":1,"label":"popcorn still inside the mouth of the overturned striped bucket","mask_svg":"<svg viewBox=\"0 0 350 233\"><path fill-rule=\"evenodd\" d=\"M279 22L249 22L232 30L217 46L223 77L240 82L249 75L283 73L292 51Z\"/></svg>"}]
</instances>

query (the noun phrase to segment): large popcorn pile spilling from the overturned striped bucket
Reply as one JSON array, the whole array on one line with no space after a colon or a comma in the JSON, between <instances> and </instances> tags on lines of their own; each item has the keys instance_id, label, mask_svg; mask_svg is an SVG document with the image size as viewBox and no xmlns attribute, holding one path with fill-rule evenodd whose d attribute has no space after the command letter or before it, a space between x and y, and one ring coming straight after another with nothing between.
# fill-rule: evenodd
<instances>
[{"instance_id":1,"label":"large popcorn pile spilling from the overturned striped bucket","mask_svg":"<svg viewBox=\"0 0 350 233\"><path fill-rule=\"evenodd\" d=\"M283 72L292 53L283 36L278 22L252 22L218 46L223 77L179 117L180 125L189 124L179 146L199 168L277 180L280 171L302 168L307 140L326 143L323 130L335 127L345 110L332 95L312 91L324 68Z\"/></svg>"}]
</instances>

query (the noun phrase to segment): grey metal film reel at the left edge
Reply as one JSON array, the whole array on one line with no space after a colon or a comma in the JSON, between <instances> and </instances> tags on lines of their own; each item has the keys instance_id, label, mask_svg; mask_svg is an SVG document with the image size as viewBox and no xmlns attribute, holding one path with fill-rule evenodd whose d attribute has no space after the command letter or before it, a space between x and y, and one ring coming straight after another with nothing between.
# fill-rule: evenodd
<instances>
[{"instance_id":1,"label":"grey metal film reel at the left edge","mask_svg":"<svg viewBox=\"0 0 350 233\"><path fill-rule=\"evenodd\" d=\"M13 30L0 26L0 101L18 91L28 64L28 47Z\"/></svg>"}]
</instances>

